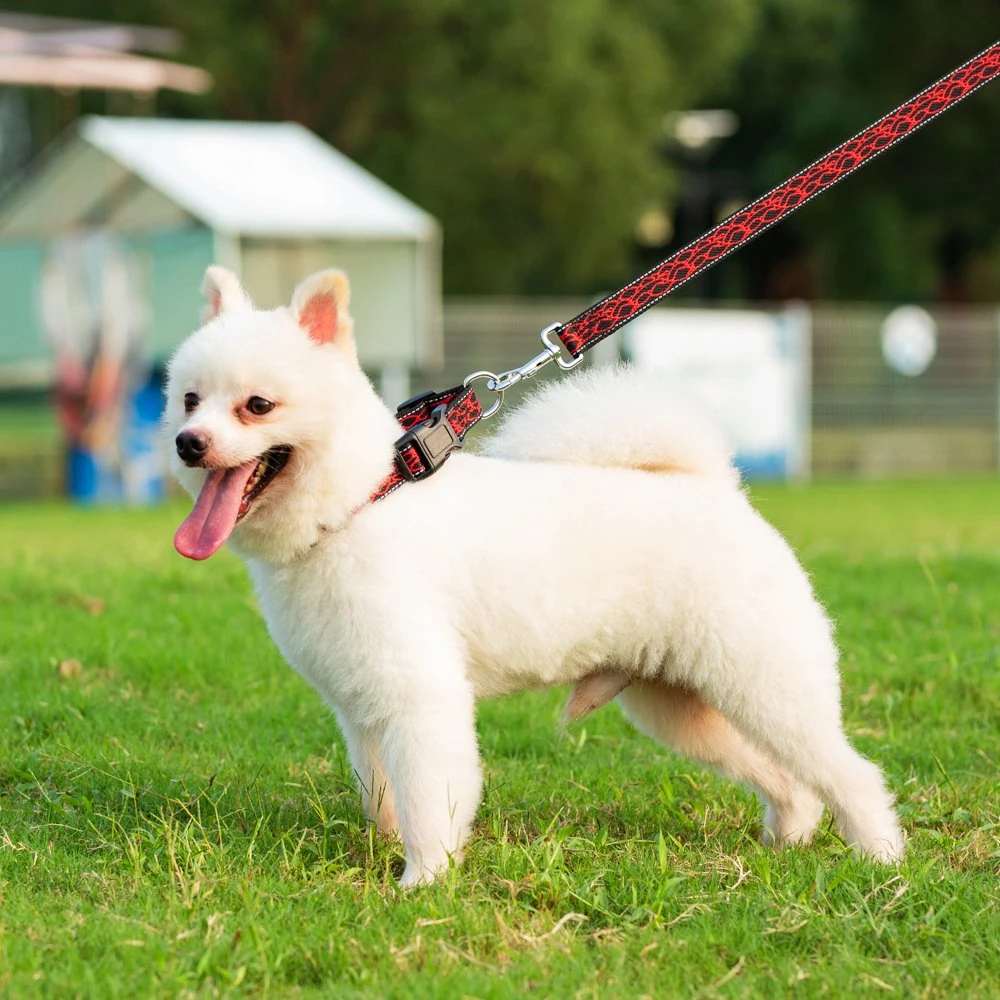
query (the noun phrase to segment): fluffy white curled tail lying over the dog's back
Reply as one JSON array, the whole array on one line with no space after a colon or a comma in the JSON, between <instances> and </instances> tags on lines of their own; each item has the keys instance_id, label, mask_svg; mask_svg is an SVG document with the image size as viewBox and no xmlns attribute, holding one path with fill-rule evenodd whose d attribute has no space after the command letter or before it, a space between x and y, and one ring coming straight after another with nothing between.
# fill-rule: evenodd
<instances>
[{"instance_id":1,"label":"fluffy white curled tail lying over the dog's back","mask_svg":"<svg viewBox=\"0 0 1000 1000\"><path fill-rule=\"evenodd\" d=\"M721 434L673 380L625 365L574 373L517 407L484 451L495 458L618 466L739 484Z\"/></svg>"}]
</instances>

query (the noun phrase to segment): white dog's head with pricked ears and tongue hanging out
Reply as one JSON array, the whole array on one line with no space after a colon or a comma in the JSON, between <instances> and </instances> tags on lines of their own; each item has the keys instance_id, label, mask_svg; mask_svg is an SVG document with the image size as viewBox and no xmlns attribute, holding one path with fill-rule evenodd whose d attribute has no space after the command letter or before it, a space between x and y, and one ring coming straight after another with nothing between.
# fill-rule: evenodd
<instances>
[{"instance_id":1,"label":"white dog's head with pricked ears and tongue hanging out","mask_svg":"<svg viewBox=\"0 0 1000 1000\"><path fill-rule=\"evenodd\" d=\"M167 377L171 464L196 498L174 545L206 559L239 526L247 554L282 561L363 501L398 427L358 366L344 274L314 274L269 311L224 268L202 292L204 326Z\"/></svg>"}]
</instances>

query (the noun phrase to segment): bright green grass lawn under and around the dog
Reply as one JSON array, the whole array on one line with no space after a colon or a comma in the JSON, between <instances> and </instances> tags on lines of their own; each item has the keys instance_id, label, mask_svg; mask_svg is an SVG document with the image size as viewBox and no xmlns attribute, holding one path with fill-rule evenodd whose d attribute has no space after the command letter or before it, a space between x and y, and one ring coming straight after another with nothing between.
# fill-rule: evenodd
<instances>
[{"instance_id":1,"label":"bright green grass lawn under and around the dog","mask_svg":"<svg viewBox=\"0 0 1000 1000\"><path fill-rule=\"evenodd\" d=\"M552 691L482 707L467 861L403 896L235 558L176 556L178 506L0 507L0 995L1000 996L1000 482L757 493L898 871L763 849L746 791Z\"/></svg>"}]
</instances>

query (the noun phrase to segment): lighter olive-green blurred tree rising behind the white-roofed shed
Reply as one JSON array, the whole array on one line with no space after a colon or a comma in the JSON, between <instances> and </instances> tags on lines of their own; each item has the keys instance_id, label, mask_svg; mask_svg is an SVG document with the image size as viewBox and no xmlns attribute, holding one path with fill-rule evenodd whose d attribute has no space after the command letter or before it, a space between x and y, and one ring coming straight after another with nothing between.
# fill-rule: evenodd
<instances>
[{"instance_id":1,"label":"lighter olive-green blurred tree rising behind the white-roofed shed","mask_svg":"<svg viewBox=\"0 0 1000 1000\"><path fill-rule=\"evenodd\" d=\"M755 7L158 0L145 16L216 80L162 111L307 125L441 219L447 290L589 293L630 277L635 223L672 183L663 116L725 81Z\"/></svg>"}]
</instances>

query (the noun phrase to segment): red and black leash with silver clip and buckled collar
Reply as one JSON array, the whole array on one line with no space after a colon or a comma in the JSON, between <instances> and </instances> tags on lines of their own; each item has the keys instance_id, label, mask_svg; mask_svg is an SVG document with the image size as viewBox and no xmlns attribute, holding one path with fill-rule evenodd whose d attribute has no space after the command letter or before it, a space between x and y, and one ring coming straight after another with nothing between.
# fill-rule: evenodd
<instances>
[{"instance_id":1,"label":"red and black leash with silver clip and buckled collar","mask_svg":"<svg viewBox=\"0 0 1000 1000\"><path fill-rule=\"evenodd\" d=\"M554 323L547 327L541 334L545 350L520 368L499 375L475 372L460 386L444 392L423 393L401 403L396 415L405 433L396 442L396 467L372 494L371 500L380 500L403 483L424 479L440 468L451 452L462 447L469 429L499 409L503 393L511 386L530 378L550 361L555 361L560 368L572 368L582 360L585 351L629 320L760 236L859 167L870 163L879 153L953 108L998 75L1000 42L994 42L895 111L734 212L714 229L671 254L624 288L585 309L568 323ZM567 361L563 357L563 349L572 360ZM485 379L487 388L497 394L496 402L485 412L473 389L477 379Z\"/></svg>"}]
</instances>

